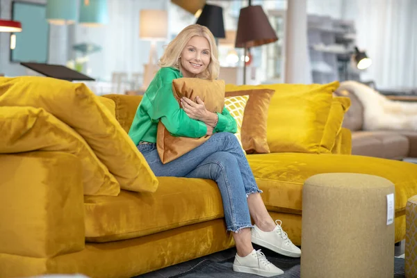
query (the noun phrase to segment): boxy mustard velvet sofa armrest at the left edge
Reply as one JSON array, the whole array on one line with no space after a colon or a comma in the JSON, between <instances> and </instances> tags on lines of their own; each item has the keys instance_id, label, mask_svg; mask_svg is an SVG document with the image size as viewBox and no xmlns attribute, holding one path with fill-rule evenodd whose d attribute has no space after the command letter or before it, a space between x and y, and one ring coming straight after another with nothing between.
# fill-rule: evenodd
<instances>
[{"instance_id":1,"label":"boxy mustard velvet sofa armrest at the left edge","mask_svg":"<svg viewBox=\"0 0 417 278\"><path fill-rule=\"evenodd\" d=\"M79 158L63 152L1 154L0 165L0 253L49 258L83 250Z\"/></svg>"}]
</instances>

